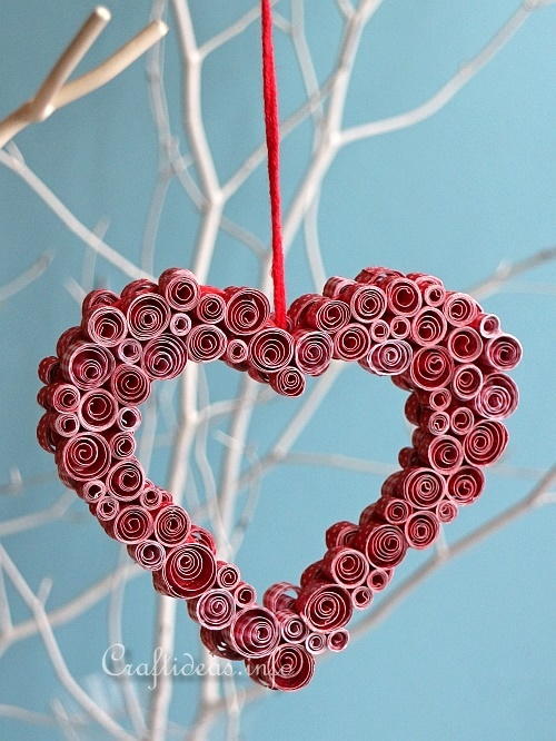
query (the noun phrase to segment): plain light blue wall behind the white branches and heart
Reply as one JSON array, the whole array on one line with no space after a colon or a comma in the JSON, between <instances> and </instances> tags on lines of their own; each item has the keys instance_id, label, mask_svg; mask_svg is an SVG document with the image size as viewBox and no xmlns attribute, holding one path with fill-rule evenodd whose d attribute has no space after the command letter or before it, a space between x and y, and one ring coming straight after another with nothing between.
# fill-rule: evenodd
<instances>
[{"instance_id":1,"label":"plain light blue wall behind the white branches and heart","mask_svg":"<svg viewBox=\"0 0 556 741\"><path fill-rule=\"evenodd\" d=\"M200 39L211 36L249 3L191 1ZM308 0L307 27L324 79L338 45L339 18L328 0ZM386 0L366 31L350 87L346 124L388 116L419 103L473 56L514 10L516 0ZM88 57L100 61L147 22L146 0L113 0L113 21ZM278 8L287 12L281 0ZM1 3L0 115L36 89L90 3L86 0L3 0ZM555 239L556 8L536 12L510 45L440 113L411 129L345 149L327 178L320 208L320 238L327 273L354 275L364 265L429 270L453 288L466 288L502 260L517 260ZM288 41L277 41L281 110L299 105L302 87ZM219 172L231 174L262 136L258 37L255 24L215 53L205 73L203 109ZM167 90L179 128L179 60L168 40ZM110 86L73 103L17 139L28 164L87 225L109 220L107 240L138 261L156 177L157 140L148 110L142 62ZM310 145L309 125L284 147L288 200ZM12 466L23 476L52 470L37 448L36 366L56 338L77 319L63 288L80 277L83 246L17 176L0 168L1 283L24 269L44 249L54 260L44 276L0 306L6 344L2 374L0 480ZM268 210L262 169L229 204L228 214L262 239ZM156 270L188 265L197 215L172 185L161 223ZM222 236L211 278L256 280L256 263ZM288 259L289 292L304 293L309 274L301 240ZM102 260L97 278L121 288L126 278ZM527 285L525 285L527 284ZM532 288L533 286L533 288ZM515 372L523 403L509 422L506 463L518 477L493 474L484 500L447 528L448 539L477 526L525 495L536 471L554 454L554 265L510 284L486 302L504 326L523 338L525 359ZM552 335L552 336L550 336ZM549 339L548 339L549 337ZM236 383L210 369L214 397ZM221 383L220 383L221 382ZM216 386L218 384L218 387ZM399 391L346 370L311 426L300 451L337 451L393 462L405 444ZM287 418L288 402L256 417L251 442L265 448ZM356 412L356 414L354 414ZM387 422L384 423L383 418ZM341 434L338 434L338 428ZM218 455L218 445L214 444ZM162 475L165 453L155 457ZM374 500L379 478L332 470L280 467L264 482L260 506L238 561L264 587L296 579L320 551L321 533L335 520L355 516ZM60 494L54 480L24 495L4 495L2 516L47 506ZM290 522L292 512L298 512ZM4 545L37 589L54 579L49 607L62 604L117 561L80 503L63 522ZM415 566L411 554L404 569ZM341 737L384 741L555 738L554 698L554 508L544 507L497 533L438 571L376 631L319 669L310 688L250 708L247 739ZM10 594L12 594L10 592ZM136 661L149 659L152 624L147 580L129 587L126 641ZM13 599L14 620L27 616ZM180 615L178 651L190 651L193 631ZM88 686L101 675L107 645L106 605L57 631L68 663ZM38 639L2 658L2 701L48 710L60 693ZM109 688L109 685L107 685ZM193 709L192 681L177 682L173 719L187 724ZM37 729L0 719L2 739L39 738ZM41 739L60 738L40 729ZM89 738L83 735L83 738ZM91 737L92 738L92 737ZM98 738L101 738L100 735Z\"/></svg>"}]
</instances>

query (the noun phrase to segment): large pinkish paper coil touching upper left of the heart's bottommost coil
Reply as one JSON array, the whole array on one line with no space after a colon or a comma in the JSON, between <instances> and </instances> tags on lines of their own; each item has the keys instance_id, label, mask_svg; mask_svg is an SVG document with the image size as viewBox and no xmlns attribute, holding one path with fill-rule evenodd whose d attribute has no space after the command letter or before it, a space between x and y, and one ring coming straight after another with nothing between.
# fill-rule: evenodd
<instances>
[{"instance_id":1,"label":"large pinkish paper coil touching upper left of the heart's bottommost coil","mask_svg":"<svg viewBox=\"0 0 556 741\"><path fill-rule=\"evenodd\" d=\"M247 607L236 613L224 635L232 650L241 656L266 656L278 645L280 624L270 610Z\"/></svg>"}]
</instances>

